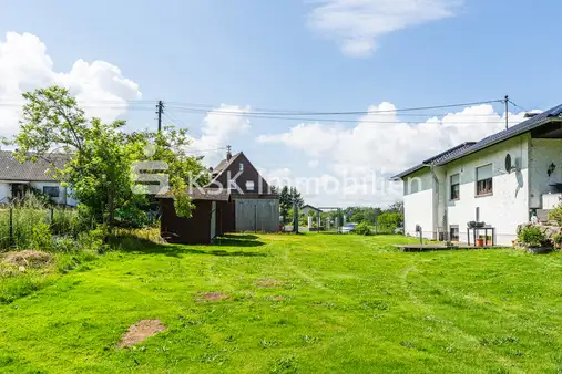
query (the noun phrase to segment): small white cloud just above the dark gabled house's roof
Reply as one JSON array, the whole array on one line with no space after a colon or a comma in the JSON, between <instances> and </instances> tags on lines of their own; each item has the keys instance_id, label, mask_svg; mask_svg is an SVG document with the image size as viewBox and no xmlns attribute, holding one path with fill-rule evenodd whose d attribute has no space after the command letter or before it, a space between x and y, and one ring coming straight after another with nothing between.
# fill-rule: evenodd
<instances>
[{"instance_id":1,"label":"small white cloud just above the dark gabled house's roof","mask_svg":"<svg viewBox=\"0 0 562 374\"><path fill-rule=\"evenodd\" d=\"M188 150L205 156L205 163L214 166L224 158L224 148L234 136L249 129L251 123L244 116L244 113L249 112L249 106L221 104L205 115L201 127L202 135L193 139Z\"/></svg>"}]
</instances>

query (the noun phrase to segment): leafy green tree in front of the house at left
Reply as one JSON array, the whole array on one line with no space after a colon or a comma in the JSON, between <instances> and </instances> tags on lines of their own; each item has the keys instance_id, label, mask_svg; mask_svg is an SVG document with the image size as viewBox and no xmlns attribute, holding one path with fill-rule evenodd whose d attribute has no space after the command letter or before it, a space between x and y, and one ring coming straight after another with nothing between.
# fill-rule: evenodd
<instances>
[{"instance_id":1,"label":"leafy green tree in front of the house at left","mask_svg":"<svg viewBox=\"0 0 562 374\"><path fill-rule=\"evenodd\" d=\"M115 226L117 211L133 211L124 217L142 214L146 206L144 195L133 194L132 165L145 160L145 146L155 143L154 155L168 162L171 187L178 194L191 184L191 175L203 168L200 160L177 154L185 144L185 133L168 129L164 134L125 134L125 122L110 124L99 118L88 118L68 90L52 86L23 94L25 104L20 121L20 132L12 143L18 146L16 155L20 162L51 159L53 152L72 154L64 167L50 170L55 179L68 185L86 211L98 222ZM201 177L204 178L204 177ZM181 212L191 214L187 197L180 198Z\"/></svg>"}]
</instances>

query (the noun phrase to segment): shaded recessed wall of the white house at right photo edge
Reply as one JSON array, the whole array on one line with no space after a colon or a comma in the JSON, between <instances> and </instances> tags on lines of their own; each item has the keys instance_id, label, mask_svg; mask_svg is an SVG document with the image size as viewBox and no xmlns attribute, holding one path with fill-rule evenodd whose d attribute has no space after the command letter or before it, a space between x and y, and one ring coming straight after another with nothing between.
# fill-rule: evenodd
<instances>
[{"instance_id":1,"label":"shaded recessed wall of the white house at right photo edge","mask_svg":"<svg viewBox=\"0 0 562 374\"><path fill-rule=\"evenodd\" d=\"M551 164L556 168L549 177ZM532 138L529 147L529 207L542 209L542 195L558 193L551 184L562 183L562 139Z\"/></svg>"}]
</instances>

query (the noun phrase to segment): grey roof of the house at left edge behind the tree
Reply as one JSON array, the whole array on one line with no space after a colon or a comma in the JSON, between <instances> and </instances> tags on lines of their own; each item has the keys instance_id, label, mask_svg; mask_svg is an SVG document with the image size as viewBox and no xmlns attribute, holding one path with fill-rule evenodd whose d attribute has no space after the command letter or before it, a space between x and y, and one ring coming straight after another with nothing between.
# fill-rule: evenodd
<instances>
[{"instance_id":1,"label":"grey roof of the house at left edge behind the tree","mask_svg":"<svg viewBox=\"0 0 562 374\"><path fill-rule=\"evenodd\" d=\"M54 178L47 170L63 168L71 157L69 154L52 153L45 157L49 160L39 158L34 163L21 164L11 150L0 150L0 180L52 181Z\"/></svg>"}]
</instances>

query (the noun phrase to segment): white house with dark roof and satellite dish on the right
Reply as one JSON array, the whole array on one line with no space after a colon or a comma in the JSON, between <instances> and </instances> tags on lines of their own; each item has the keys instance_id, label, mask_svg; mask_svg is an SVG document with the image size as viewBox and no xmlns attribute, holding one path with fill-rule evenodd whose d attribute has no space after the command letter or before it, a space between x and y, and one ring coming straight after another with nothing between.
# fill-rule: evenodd
<instances>
[{"instance_id":1,"label":"white house with dark roof and satellite dish on the right","mask_svg":"<svg viewBox=\"0 0 562 374\"><path fill-rule=\"evenodd\" d=\"M477 221L494 228L494 243L511 245L518 225L545 219L562 199L561 114L559 105L395 176L403 180L405 233L419 226L425 238L467 242Z\"/></svg>"}]
</instances>

